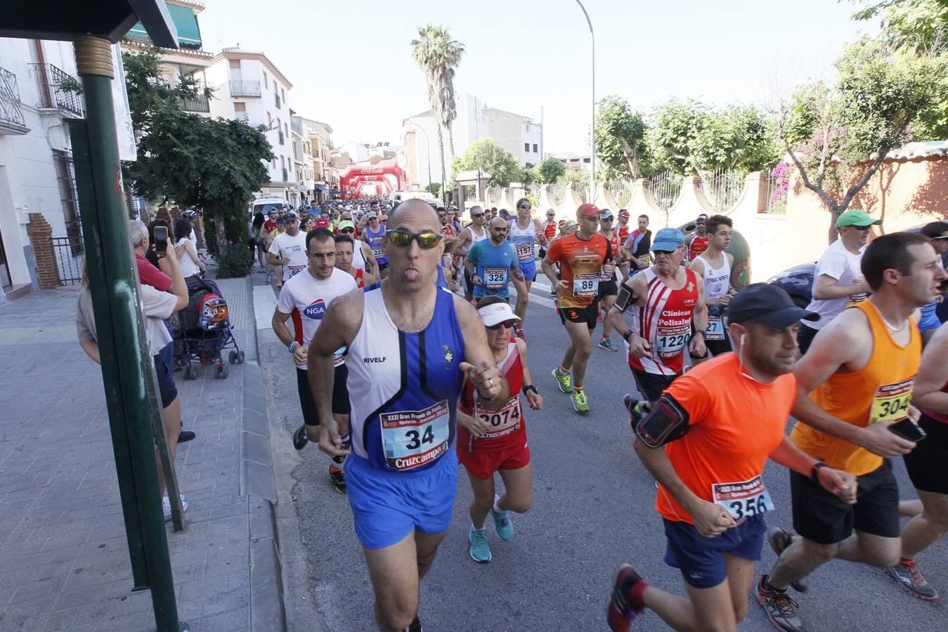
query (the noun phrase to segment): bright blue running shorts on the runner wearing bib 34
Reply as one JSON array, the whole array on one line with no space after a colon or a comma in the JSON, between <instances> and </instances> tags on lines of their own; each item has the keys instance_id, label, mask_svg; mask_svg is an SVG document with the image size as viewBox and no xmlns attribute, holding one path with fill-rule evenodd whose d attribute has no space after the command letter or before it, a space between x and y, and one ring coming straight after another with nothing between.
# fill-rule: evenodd
<instances>
[{"instance_id":1,"label":"bright blue running shorts on the runner wearing bib 34","mask_svg":"<svg viewBox=\"0 0 948 632\"><path fill-rule=\"evenodd\" d=\"M385 549L409 533L443 533L451 523L458 457L450 448L421 472L390 472L349 455L343 466L356 535L366 549Z\"/></svg>"}]
</instances>

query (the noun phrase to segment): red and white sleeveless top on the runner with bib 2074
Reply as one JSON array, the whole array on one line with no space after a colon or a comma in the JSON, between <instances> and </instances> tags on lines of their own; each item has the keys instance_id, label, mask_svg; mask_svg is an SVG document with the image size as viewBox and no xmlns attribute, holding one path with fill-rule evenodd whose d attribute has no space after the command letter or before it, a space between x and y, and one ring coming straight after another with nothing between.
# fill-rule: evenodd
<instances>
[{"instance_id":1,"label":"red and white sleeveless top on the runner with bib 2074","mask_svg":"<svg viewBox=\"0 0 948 632\"><path fill-rule=\"evenodd\" d=\"M458 401L458 410L482 419L491 425L491 429L480 438L474 436L463 425L458 424L459 452L474 452L487 450L505 450L512 446L523 445L527 440L527 429L523 422L523 407L520 406L520 388L523 388L523 362L520 359L520 350L516 338L510 338L507 345L507 354L498 367L507 378L512 393L506 406L500 410L485 410L478 402L481 399L477 389L471 381L465 382Z\"/></svg>"}]
</instances>

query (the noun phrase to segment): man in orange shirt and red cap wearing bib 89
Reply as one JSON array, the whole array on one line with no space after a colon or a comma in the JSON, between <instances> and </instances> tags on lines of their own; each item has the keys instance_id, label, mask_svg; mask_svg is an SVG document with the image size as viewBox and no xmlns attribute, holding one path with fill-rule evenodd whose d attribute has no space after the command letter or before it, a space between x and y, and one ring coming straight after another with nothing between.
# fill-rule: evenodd
<instances>
[{"instance_id":1,"label":"man in orange shirt and red cap wearing bib 89","mask_svg":"<svg viewBox=\"0 0 948 632\"><path fill-rule=\"evenodd\" d=\"M566 333L570 334L570 345L566 348L563 362L553 370L553 376L562 392L573 393L573 407L578 413L590 410L583 390L583 378L593 351L593 330L599 316L596 302L599 279L601 275L611 277L615 270L612 263L615 253L611 251L609 241L596 232L600 215L601 211L594 204L577 208L576 232L550 244L543 258L543 274L556 287L559 319L566 327ZM559 262L558 279L556 262Z\"/></svg>"}]
</instances>

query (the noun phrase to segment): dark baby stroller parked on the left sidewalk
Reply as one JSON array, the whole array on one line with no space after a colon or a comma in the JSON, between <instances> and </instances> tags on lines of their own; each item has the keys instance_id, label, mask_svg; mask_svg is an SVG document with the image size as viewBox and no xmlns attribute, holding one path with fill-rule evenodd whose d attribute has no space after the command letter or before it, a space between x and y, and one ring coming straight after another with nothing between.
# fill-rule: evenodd
<instances>
[{"instance_id":1,"label":"dark baby stroller parked on the left sidewalk","mask_svg":"<svg viewBox=\"0 0 948 632\"><path fill-rule=\"evenodd\" d=\"M197 365L213 364L214 377L227 379L228 365L221 352L230 349L230 364L243 364L244 352L230 329L228 303L210 279L188 281L188 305L177 314L174 327L175 361L184 365L184 379L197 377Z\"/></svg>"}]
</instances>

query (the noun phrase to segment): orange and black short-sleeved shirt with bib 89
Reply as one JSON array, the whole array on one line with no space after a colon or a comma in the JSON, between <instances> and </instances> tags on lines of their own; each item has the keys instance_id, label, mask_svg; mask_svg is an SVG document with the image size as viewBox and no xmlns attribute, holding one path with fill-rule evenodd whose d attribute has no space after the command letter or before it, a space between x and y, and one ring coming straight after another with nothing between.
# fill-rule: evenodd
<instances>
[{"instance_id":1,"label":"orange and black short-sleeved shirt with bib 89","mask_svg":"<svg viewBox=\"0 0 948 632\"><path fill-rule=\"evenodd\" d=\"M560 309L592 305L599 293L602 264L613 256L609 241L599 233L589 241L567 235L550 244L546 256L559 262L559 278L566 281L566 289L558 292Z\"/></svg>"}]
</instances>

